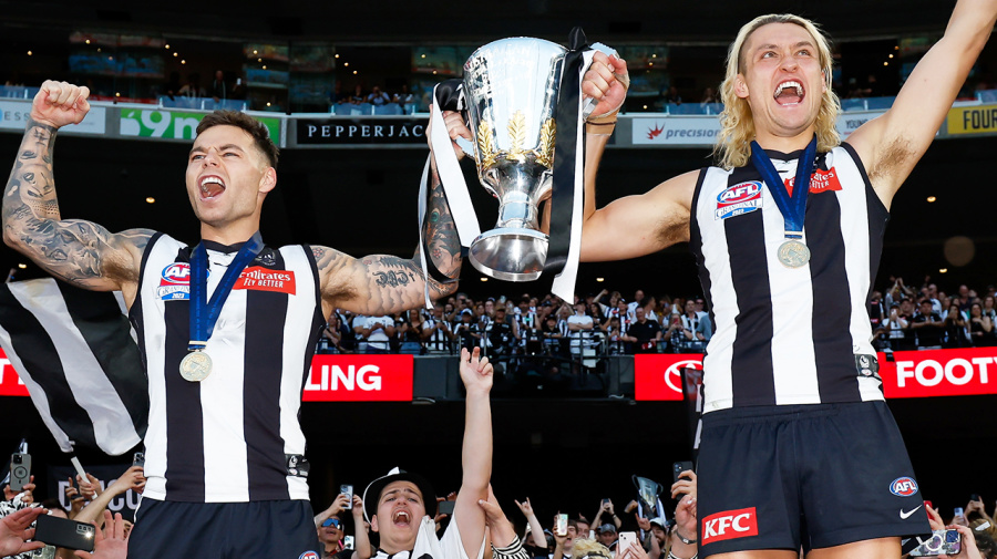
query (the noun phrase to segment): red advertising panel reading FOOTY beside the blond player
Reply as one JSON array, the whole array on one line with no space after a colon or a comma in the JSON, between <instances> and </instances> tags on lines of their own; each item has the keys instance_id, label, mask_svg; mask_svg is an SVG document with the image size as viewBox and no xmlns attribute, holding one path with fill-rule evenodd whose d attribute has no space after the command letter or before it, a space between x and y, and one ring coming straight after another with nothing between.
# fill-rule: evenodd
<instances>
[{"instance_id":1,"label":"red advertising panel reading FOOTY beside the blond player","mask_svg":"<svg viewBox=\"0 0 997 559\"><path fill-rule=\"evenodd\" d=\"M997 348L897 351L880 359L886 397L997 394Z\"/></svg>"}]
</instances>

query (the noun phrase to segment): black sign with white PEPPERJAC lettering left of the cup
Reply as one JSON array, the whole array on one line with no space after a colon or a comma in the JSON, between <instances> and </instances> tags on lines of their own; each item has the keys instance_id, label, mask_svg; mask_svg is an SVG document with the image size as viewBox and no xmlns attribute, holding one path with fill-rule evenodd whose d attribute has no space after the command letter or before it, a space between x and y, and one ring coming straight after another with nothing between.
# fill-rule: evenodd
<instances>
[{"instance_id":1,"label":"black sign with white PEPPERJAC lettering left of the cup","mask_svg":"<svg viewBox=\"0 0 997 559\"><path fill-rule=\"evenodd\" d=\"M298 145L424 144L424 118L300 118Z\"/></svg>"}]
</instances>

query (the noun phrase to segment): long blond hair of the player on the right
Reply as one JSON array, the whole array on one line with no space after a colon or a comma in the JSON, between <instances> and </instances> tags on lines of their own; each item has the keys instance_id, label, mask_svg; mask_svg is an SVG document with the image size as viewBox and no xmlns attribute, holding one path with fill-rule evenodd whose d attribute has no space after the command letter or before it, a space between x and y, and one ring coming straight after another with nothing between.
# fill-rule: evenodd
<instances>
[{"instance_id":1,"label":"long blond hair of the player on the right","mask_svg":"<svg viewBox=\"0 0 997 559\"><path fill-rule=\"evenodd\" d=\"M734 93L734 82L741 73L743 63L741 50L751 33L769 23L793 23L805 29L816 42L821 71L824 73L825 87L821 95L821 110L814 123L818 136L818 152L830 152L841 143L837 134L837 115L841 113L841 102L837 94L831 87L831 43L828 38L810 20L791 13L770 13L760 15L747 23L738 32L737 39L730 45L727 53L727 76L720 84L720 101L723 102L723 112L720 113L720 134L717 136L717 145L713 147L713 156L719 165L726 169L741 167L748 164L751 157L751 141L754 139L754 118L747 99L738 97Z\"/></svg>"}]
</instances>

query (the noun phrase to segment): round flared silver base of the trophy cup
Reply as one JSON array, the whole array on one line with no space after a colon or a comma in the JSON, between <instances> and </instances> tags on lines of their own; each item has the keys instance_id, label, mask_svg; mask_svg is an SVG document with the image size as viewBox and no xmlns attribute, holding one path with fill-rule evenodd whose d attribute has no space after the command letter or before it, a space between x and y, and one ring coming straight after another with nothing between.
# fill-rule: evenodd
<instances>
[{"instance_id":1,"label":"round flared silver base of the trophy cup","mask_svg":"<svg viewBox=\"0 0 997 559\"><path fill-rule=\"evenodd\" d=\"M474 239L469 258L477 271L491 278L533 281L544 271L547 236L526 228L492 229Z\"/></svg>"}]
</instances>

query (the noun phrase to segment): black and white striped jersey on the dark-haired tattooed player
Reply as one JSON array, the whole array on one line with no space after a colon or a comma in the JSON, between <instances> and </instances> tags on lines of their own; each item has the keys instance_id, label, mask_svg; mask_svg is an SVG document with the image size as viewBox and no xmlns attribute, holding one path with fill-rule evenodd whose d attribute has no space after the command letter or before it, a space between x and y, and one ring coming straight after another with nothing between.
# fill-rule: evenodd
<instances>
[{"instance_id":1,"label":"black and white striped jersey on the dark-haired tattooed player","mask_svg":"<svg viewBox=\"0 0 997 559\"><path fill-rule=\"evenodd\" d=\"M204 244L210 297L239 246ZM246 266L205 348L214 368L202 382L179 374L189 341L191 251L156 234L130 312L148 375L144 496L307 499L297 468L305 454L298 410L325 322L311 250L266 247Z\"/></svg>"}]
</instances>

